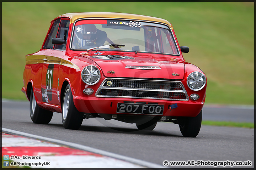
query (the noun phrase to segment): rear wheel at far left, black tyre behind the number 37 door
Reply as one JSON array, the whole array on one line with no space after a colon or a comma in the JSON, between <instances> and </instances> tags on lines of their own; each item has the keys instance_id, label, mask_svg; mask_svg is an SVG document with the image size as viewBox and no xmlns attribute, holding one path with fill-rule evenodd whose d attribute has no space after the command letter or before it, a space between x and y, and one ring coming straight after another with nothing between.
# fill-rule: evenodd
<instances>
[{"instance_id":1,"label":"rear wheel at far left, black tyre behind the number 37 door","mask_svg":"<svg viewBox=\"0 0 256 170\"><path fill-rule=\"evenodd\" d=\"M38 106L34 97L33 88L30 95L30 117L33 123L48 124L52 120L53 112L42 109Z\"/></svg>"}]
</instances>

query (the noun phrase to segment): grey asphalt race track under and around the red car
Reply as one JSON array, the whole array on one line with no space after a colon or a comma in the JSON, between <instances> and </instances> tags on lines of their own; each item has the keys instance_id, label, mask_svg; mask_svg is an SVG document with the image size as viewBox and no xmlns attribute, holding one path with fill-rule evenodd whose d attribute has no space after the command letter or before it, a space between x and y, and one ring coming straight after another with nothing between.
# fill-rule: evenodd
<instances>
[{"instance_id":1,"label":"grey asphalt race track under and around the red car","mask_svg":"<svg viewBox=\"0 0 256 170\"><path fill-rule=\"evenodd\" d=\"M206 105L204 120L253 122L253 107ZM254 167L254 129L202 126L195 138L183 137L178 125L159 122L153 131L138 131L134 124L102 118L84 119L79 130L64 129L61 114L48 125L33 124L29 102L2 102L2 128L42 136L74 145L123 155L131 160L163 165L170 161L251 161ZM167 166L197 168L198 166ZM214 166L203 166L213 168ZM228 166L230 167L230 166ZM222 168L222 167L220 167Z\"/></svg>"}]
</instances>

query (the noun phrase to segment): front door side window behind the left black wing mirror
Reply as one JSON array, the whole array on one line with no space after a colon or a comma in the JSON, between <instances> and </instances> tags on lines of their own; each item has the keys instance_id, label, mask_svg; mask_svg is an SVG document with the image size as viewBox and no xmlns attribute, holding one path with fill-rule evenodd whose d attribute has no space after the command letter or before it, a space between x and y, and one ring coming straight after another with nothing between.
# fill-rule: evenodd
<instances>
[{"instance_id":1,"label":"front door side window behind the left black wing mirror","mask_svg":"<svg viewBox=\"0 0 256 170\"><path fill-rule=\"evenodd\" d=\"M69 20L66 20L66 19L61 20L57 38L62 38L63 40L66 41L68 36L68 29L69 29ZM54 49L65 50L66 44L55 45Z\"/></svg>"}]
</instances>

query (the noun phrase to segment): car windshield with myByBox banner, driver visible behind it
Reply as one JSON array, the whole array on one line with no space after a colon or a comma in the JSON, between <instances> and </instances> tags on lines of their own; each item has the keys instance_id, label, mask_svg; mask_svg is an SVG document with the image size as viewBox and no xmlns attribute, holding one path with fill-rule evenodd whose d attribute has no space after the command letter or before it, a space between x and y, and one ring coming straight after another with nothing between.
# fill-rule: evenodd
<instances>
[{"instance_id":1,"label":"car windshield with myByBox banner, driver visible behind it","mask_svg":"<svg viewBox=\"0 0 256 170\"><path fill-rule=\"evenodd\" d=\"M75 22L71 49L87 50L109 44L125 45L111 50L179 54L169 27L162 24L108 19Z\"/></svg>"}]
</instances>

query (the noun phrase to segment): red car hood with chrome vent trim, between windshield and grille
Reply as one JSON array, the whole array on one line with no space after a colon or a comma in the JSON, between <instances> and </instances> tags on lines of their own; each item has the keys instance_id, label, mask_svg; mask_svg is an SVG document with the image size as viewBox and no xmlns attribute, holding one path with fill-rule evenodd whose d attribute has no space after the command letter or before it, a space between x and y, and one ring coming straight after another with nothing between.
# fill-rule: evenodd
<instances>
[{"instance_id":1,"label":"red car hood with chrome vent trim, between windshield and grille","mask_svg":"<svg viewBox=\"0 0 256 170\"><path fill-rule=\"evenodd\" d=\"M170 58L153 56L87 56L106 77L183 79L185 65Z\"/></svg>"}]
</instances>

